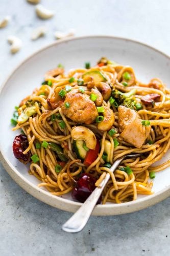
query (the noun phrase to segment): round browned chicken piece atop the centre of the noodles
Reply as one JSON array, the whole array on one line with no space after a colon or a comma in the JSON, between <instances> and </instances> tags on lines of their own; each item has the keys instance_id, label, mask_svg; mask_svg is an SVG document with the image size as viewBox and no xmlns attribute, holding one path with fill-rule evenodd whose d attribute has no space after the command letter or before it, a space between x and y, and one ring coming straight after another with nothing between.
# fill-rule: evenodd
<instances>
[{"instance_id":1,"label":"round browned chicken piece atop the centre of the noodles","mask_svg":"<svg viewBox=\"0 0 170 256\"><path fill-rule=\"evenodd\" d=\"M69 108L65 107L65 103L69 103ZM94 122L98 116L95 104L86 94L78 93L77 90L72 90L66 94L62 112L66 117L77 123L90 124Z\"/></svg>"}]
</instances>

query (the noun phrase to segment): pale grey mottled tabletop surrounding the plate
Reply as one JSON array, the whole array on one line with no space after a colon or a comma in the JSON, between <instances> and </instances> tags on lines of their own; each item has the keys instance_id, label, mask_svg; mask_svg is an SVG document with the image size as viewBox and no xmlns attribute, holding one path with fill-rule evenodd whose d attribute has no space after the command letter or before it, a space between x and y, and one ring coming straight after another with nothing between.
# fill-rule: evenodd
<instances>
[{"instance_id":1,"label":"pale grey mottled tabletop surrounding the plate","mask_svg":"<svg viewBox=\"0 0 170 256\"><path fill-rule=\"evenodd\" d=\"M76 35L104 34L146 42L170 54L168 0L42 0L56 12L40 20L26 0L0 0L0 17L11 15L0 30L0 83L29 54L54 41L54 31L76 29ZM48 33L32 42L33 28ZM19 36L23 48L9 52L7 37ZM0 136L3 136L2 134ZM1 138L1 137L0 137ZM0 255L169 255L170 199L133 214L91 217L80 233L69 234L61 225L71 216L27 194L0 164Z\"/></svg>"}]
</instances>

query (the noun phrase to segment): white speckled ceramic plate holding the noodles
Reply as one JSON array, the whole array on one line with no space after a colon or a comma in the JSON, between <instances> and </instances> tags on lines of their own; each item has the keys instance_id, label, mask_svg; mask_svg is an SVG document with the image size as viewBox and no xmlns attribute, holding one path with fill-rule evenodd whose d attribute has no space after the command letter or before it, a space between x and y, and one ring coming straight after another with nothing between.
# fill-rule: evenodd
<instances>
[{"instance_id":1,"label":"white speckled ceramic plate holding the noodles","mask_svg":"<svg viewBox=\"0 0 170 256\"><path fill-rule=\"evenodd\" d=\"M0 158L10 176L28 193L54 207L75 212L81 203L71 200L69 195L56 197L42 188L38 180L29 175L28 167L20 163L12 152L12 142L19 132L12 132L10 119L14 106L39 87L44 73L62 63L66 71L84 67L84 62L96 61L106 56L123 65L134 68L136 76L143 82L153 77L161 78L168 84L170 80L170 58L165 54L139 42L111 36L87 36L57 41L31 55L8 77L0 94ZM167 158L167 156L166 156ZM156 174L154 195L138 197L136 201L123 204L97 205L93 215L118 215L151 206L170 195L170 168Z\"/></svg>"}]
</instances>

